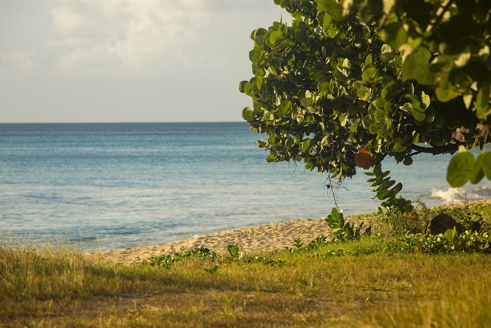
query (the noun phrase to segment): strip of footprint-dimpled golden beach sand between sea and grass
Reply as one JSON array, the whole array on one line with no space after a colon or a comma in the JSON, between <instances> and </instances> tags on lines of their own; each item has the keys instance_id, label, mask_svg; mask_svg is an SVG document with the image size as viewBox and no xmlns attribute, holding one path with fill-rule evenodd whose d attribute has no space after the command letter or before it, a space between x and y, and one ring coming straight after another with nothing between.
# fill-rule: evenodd
<instances>
[{"instance_id":1,"label":"strip of footprint-dimpled golden beach sand between sea and grass","mask_svg":"<svg viewBox=\"0 0 491 328\"><path fill-rule=\"evenodd\" d=\"M362 221L351 222L359 225ZM218 254L227 254L227 246L235 243L241 252L250 254L293 247L294 240L298 238L306 244L319 236L329 235L331 231L324 219L278 222L217 232L191 240L87 253L85 256L95 261L131 265L152 256L174 254L201 246Z\"/></svg>"}]
</instances>

